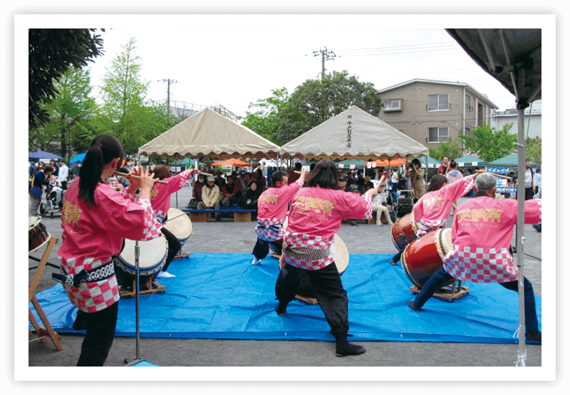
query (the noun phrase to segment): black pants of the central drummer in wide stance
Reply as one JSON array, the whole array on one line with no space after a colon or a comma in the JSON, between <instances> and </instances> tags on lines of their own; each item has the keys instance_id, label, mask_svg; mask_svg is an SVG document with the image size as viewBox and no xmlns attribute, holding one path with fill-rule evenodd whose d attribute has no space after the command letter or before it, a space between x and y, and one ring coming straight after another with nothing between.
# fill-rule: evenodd
<instances>
[{"instance_id":1,"label":"black pants of the central drummer in wide stance","mask_svg":"<svg viewBox=\"0 0 570 395\"><path fill-rule=\"evenodd\" d=\"M289 303L295 298L301 285L301 272L305 272L311 279L318 305L323 310L326 322L331 326L331 334L346 335L348 297L334 263L318 270L304 270L285 264L275 284L275 295L279 302Z\"/></svg>"}]
</instances>

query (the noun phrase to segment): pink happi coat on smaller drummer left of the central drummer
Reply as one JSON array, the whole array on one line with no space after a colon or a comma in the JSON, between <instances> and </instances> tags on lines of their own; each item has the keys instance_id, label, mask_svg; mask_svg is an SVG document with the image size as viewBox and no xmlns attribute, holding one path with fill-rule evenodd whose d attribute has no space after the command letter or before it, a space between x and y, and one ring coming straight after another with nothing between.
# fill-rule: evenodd
<instances>
[{"instance_id":1,"label":"pink happi coat on smaller drummer left of the central drummer","mask_svg":"<svg viewBox=\"0 0 570 395\"><path fill-rule=\"evenodd\" d=\"M257 222L255 228L257 236L264 241L277 241L283 238L284 228L279 227L279 231L270 228L271 225L282 225L287 216L289 201L301 189L304 181L297 179L293 184L281 186L281 188L269 188L264 191L257 200Z\"/></svg>"}]
</instances>

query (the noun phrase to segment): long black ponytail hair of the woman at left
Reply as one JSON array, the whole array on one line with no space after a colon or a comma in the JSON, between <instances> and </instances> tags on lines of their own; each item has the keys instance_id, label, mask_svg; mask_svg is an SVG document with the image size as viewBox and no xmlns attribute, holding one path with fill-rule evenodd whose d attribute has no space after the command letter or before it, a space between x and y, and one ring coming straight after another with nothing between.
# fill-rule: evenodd
<instances>
[{"instance_id":1,"label":"long black ponytail hair of the woman at left","mask_svg":"<svg viewBox=\"0 0 570 395\"><path fill-rule=\"evenodd\" d=\"M79 174L79 199L97 206L95 203L95 188L101 180L103 167L115 158L123 159L123 147L117 137L113 135L98 135L93 139ZM117 166L122 163L119 160Z\"/></svg>"}]
</instances>

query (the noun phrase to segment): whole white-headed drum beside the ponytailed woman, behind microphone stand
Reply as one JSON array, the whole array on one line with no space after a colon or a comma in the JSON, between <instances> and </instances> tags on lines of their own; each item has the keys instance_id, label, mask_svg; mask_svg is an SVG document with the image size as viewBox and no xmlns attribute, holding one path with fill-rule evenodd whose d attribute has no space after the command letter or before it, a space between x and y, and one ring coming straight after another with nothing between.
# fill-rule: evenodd
<instances>
[{"instance_id":1,"label":"whole white-headed drum beside the ponytailed woman, behind microphone stand","mask_svg":"<svg viewBox=\"0 0 570 395\"><path fill-rule=\"evenodd\" d=\"M151 241L139 241L138 245L140 283L145 283L149 278L156 278L165 265L168 242L164 236L160 236ZM135 241L125 238L123 251L115 258L115 274L119 285L132 285L136 274Z\"/></svg>"}]
</instances>

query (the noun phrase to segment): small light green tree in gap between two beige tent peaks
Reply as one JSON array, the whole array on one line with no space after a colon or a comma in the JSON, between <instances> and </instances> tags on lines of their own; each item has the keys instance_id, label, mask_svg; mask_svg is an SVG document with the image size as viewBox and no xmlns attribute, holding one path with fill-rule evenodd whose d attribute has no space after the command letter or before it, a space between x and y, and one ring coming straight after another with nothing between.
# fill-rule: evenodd
<instances>
[{"instance_id":1,"label":"small light green tree in gap between two beige tent peaks","mask_svg":"<svg viewBox=\"0 0 570 395\"><path fill-rule=\"evenodd\" d=\"M281 119L280 111L289 99L289 92L286 88L281 88L271 90L271 94L270 98L258 99L255 103L249 103L247 108L257 109L257 111L246 111L242 125L279 145L281 142L277 137L277 128Z\"/></svg>"}]
</instances>

